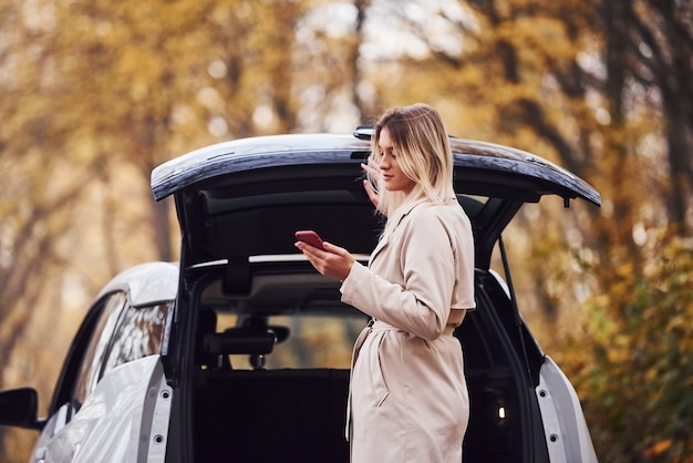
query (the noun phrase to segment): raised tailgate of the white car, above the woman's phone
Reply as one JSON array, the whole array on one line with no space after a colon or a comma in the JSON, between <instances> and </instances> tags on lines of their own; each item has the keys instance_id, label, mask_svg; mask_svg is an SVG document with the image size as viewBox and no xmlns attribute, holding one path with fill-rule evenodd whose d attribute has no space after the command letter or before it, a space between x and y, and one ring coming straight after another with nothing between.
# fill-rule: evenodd
<instances>
[{"instance_id":1,"label":"raised tailgate of the white car, above the woman's phone","mask_svg":"<svg viewBox=\"0 0 693 463\"><path fill-rule=\"evenodd\" d=\"M184 268L215 259L296 253L293 232L316 229L352 253L370 254L382 222L363 192L361 163L372 128L353 134L285 134L196 150L152 173L161 200L174 195ZM559 195L600 204L572 173L527 152L451 137L455 191L469 215L477 266L524 203Z\"/></svg>"}]
</instances>

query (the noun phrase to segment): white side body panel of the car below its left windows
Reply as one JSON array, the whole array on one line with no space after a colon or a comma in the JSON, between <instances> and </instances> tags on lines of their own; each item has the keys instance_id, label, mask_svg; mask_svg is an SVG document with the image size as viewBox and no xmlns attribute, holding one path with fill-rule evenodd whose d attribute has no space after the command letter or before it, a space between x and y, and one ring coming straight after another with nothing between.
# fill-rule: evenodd
<instances>
[{"instance_id":1,"label":"white side body panel of the car below its left windows","mask_svg":"<svg viewBox=\"0 0 693 463\"><path fill-rule=\"evenodd\" d=\"M106 374L82 408L68 404L43 429L34 461L164 462L172 389L158 356L125 363Z\"/></svg>"}]
</instances>

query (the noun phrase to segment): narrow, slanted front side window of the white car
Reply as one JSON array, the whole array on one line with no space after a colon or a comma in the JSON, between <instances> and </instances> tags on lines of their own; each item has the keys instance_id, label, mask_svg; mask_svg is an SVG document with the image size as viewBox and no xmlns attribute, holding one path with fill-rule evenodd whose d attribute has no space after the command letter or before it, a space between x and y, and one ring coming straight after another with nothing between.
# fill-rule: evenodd
<instances>
[{"instance_id":1,"label":"narrow, slanted front side window of the white car","mask_svg":"<svg viewBox=\"0 0 693 463\"><path fill-rule=\"evenodd\" d=\"M100 379L104 352L108 347L118 315L125 306L127 297L118 291L102 300L103 309L94 326L89 344L84 351L80 373L75 384L72 402L79 409L86 397L94 390Z\"/></svg>"}]
</instances>

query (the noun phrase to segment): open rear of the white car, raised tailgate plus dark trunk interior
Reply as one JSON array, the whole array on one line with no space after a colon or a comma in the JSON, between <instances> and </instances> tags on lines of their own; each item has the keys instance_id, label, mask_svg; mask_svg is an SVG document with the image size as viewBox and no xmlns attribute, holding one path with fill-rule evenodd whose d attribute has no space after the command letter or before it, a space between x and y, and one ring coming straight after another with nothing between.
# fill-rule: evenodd
<instances>
[{"instance_id":1,"label":"open rear of the white car, raised tailgate plus dark trunk interior","mask_svg":"<svg viewBox=\"0 0 693 463\"><path fill-rule=\"evenodd\" d=\"M293 233L314 229L363 258L374 248L383 224L360 182L369 132L355 135L229 142L154 171L155 197L175 195L183 235L164 354L175 389L168 461L349 461L349 361L368 318L340 302L339 282L310 267ZM599 195L531 154L452 145L477 269L477 309L455 332L470 398L464 461L548 461L534 391L544 354L490 257L524 203Z\"/></svg>"}]
</instances>

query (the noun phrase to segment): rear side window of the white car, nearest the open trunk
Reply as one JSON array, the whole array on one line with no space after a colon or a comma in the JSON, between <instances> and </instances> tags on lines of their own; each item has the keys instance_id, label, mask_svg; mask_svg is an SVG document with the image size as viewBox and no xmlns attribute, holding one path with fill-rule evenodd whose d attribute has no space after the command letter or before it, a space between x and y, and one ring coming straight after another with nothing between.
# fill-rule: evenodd
<instances>
[{"instance_id":1,"label":"rear side window of the white car, nearest the open trunk","mask_svg":"<svg viewBox=\"0 0 693 463\"><path fill-rule=\"evenodd\" d=\"M101 377L115 367L161 353L169 305L128 306L118 320Z\"/></svg>"}]
</instances>

